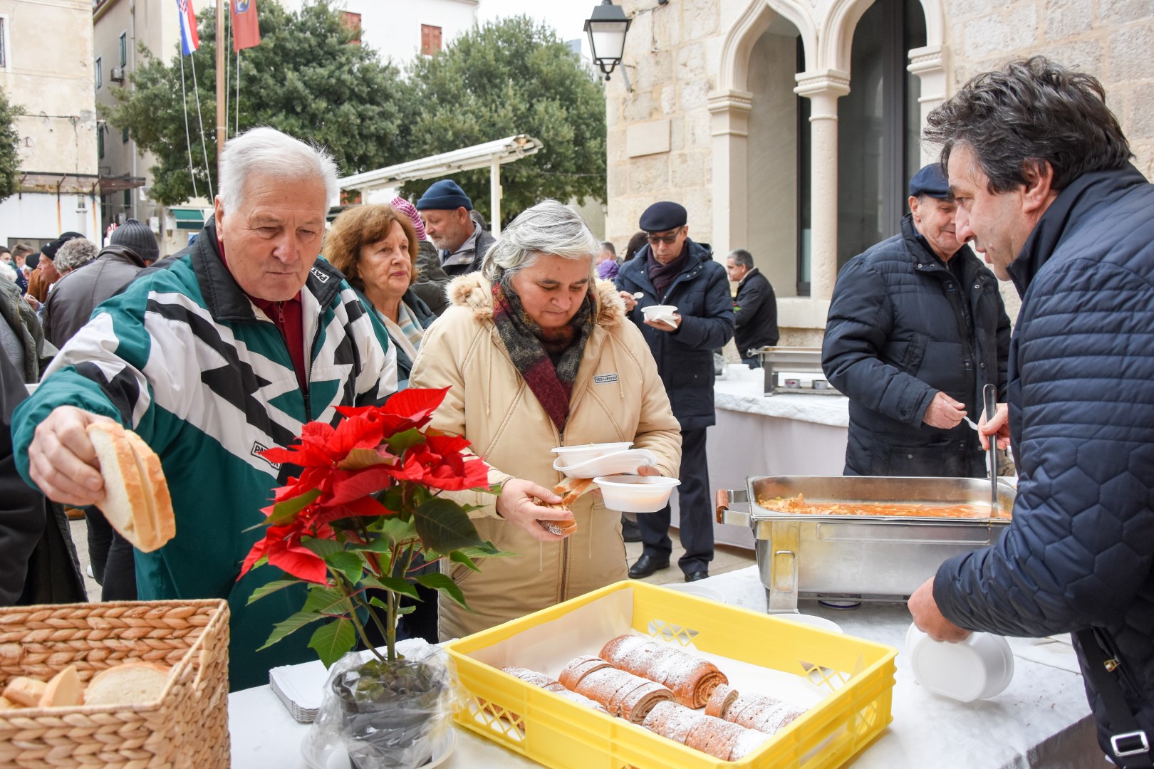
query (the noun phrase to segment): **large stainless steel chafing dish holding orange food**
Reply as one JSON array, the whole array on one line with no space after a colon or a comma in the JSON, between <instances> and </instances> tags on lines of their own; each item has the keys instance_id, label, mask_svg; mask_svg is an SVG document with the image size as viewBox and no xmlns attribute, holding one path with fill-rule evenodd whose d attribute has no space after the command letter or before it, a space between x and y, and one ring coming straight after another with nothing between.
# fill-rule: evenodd
<instances>
[{"instance_id":1,"label":"large stainless steel chafing dish holding orange food","mask_svg":"<svg viewBox=\"0 0 1154 769\"><path fill-rule=\"evenodd\" d=\"M719 523L749 526L770 611L793 611L799 596L900 601L943 560L988 544L1010 525L1016 490L998 481L1004 518L913 518L781 513L758 499L804 495L807 503L967 504L990 507L988 478L757 476L717 492ZM733 506L747 506L747 511ZM991 511L992 514L992 511Z\"/></svg>"}]
</instances>

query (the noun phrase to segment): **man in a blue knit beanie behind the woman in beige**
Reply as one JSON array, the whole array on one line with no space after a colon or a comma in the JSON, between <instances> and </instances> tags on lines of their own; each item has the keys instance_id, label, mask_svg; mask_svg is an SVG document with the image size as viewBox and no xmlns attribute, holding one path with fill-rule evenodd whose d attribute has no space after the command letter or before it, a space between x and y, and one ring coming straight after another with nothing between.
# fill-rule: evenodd
<instances>
[{"instance_id":1,"label":"man in a blue knit beanie behind the woman in beige","mask_svg":"<svg viewBox=\"0 0 1154 769\"><path fill-rule=\"evenodd\" d=\"M444 287L457 276L477 272L495 239L473 221L473 201L451 179L442 179L417 201L425 233L436 247L436 258L421 254L413 291L425 302L444 311Z\"/></svg>"}]
</instances>

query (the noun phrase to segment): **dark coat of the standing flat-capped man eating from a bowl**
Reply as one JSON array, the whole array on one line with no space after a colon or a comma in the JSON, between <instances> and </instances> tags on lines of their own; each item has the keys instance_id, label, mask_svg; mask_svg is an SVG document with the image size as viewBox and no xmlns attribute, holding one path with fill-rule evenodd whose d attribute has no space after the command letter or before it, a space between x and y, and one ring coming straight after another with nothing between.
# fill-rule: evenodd
<instances>
[{"instance_id":1,"label":"dark coat of the standing flat-capped man eating from a bowl","mask_svg":"<svg viewBox=\"0 0 1154 769\"><path fill-rule=\"evenodd\" d=\"M657 370L682 430L707 428L717 420L713 412L713 350L733 337L733 296L725 267L713 261L706 243L685 240L689 255L685 267L669 284L665 296L649 279L650 247L621 265L617 288L630 294L643 292L629 319L637 324L657 360ZM642 308L675 304L681 316L676 331L659 331L645 325Z\"/></svg>"}]
</instances>

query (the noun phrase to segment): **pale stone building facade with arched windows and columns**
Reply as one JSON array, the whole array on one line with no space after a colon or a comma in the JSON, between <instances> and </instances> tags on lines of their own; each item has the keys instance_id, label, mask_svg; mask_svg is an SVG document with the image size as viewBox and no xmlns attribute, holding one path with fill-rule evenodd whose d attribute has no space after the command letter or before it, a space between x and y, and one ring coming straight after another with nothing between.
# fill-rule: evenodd
<instances>
[{"instance_id":1,"label":"pale stone building facade with arched windows and columns","mask_svg":"<svg viewBox=\"0 0 1154 769\"><path fill-rule=\"evenodd\" d=\"M1094 74L1136 165L1154 164L1154 0L621 5L607 234L623 243L651 202L683 203L715 258L754 254L782 344L820 342L839 265L898 232L906 181L936 157L926 115L977 73L1042 53Z\"/></svg>"}]
</instances>

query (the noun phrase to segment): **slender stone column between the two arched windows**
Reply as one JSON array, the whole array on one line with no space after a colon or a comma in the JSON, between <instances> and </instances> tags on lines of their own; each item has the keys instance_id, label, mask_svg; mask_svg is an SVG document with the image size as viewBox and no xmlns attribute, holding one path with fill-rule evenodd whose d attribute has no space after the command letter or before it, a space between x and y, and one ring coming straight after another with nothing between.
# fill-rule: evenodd
<instances>
[{"instance_id":1,"label":"slender stone column between the two arched windows","mask_svg":"<svg viewBox=\"0 0 1154 769\"><path fill-rule=\"evenodd\" d=\"M837 69L797 73L794 93L810 100L810 296L833 296L838 278L838 99L849 75Z\"/></svg>"}]
</instances>

